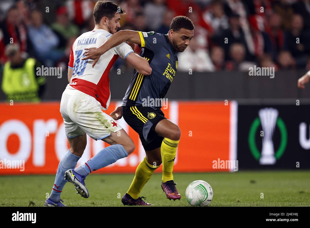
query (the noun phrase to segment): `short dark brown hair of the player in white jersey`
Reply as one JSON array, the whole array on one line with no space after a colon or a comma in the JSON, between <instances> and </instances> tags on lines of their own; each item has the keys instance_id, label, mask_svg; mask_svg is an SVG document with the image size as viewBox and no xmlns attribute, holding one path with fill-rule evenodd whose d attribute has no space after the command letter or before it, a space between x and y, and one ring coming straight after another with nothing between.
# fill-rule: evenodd
<instances>
[{"instance_id":1,"label":"short dark brown hair of the player in white jersey","mask_svg":"<svg viewBox=\"0 0 310 228\"><path fill-rule=\"evenodd\" d=\"M114 17L114 14L119 12L120 14L126 14L126 11L114 2L110 1L98 1L95 4L93 16L95 24L99 24L100 20L106 16L108 19Z\"/></svg>"}]
</instances>

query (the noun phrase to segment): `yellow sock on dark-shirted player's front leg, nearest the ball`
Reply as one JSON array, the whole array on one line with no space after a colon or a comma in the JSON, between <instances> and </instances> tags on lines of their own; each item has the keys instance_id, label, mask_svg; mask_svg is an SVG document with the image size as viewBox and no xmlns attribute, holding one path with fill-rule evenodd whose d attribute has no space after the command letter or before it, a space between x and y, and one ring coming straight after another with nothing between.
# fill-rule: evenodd
<instances>
[{"instance_id":1,"label":"yellow sock on dark-shirted player's front leg, nearest the ball","mask_svg":"<svg viewBox=\"0 0 310 228\"><path fill-rule=\"evenodd\" d=\"M173 141L168 138L164 138L160 152L162 154L162 182L173 180L173 164L176 155L176 149L178 147L179 140Z\"/></svg>"}]
</instances>

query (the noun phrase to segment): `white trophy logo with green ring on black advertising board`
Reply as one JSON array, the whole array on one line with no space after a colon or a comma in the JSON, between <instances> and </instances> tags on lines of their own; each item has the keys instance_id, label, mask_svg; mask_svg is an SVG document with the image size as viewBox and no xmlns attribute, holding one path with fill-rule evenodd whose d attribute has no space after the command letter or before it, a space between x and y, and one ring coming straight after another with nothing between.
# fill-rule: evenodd
<instances>
[{"instance_id":1,"label":"white trophy logo with green ring on black advertising board","mask_svg":"<svg viewBox=\"0 0 310 228\"><path fill-rule=\"evenodd\" d=\"M259 110L259 117L253 121L249 132L249 147L253 157L261 165L273 165L280 159L287 145L287 131L283 120L278 116L279 112L274 108L264 108ZM257 128L262 125L262 151L259 152L256 146L255 135ZM272 136L275 127L278 127L281 134L281 142L278 150L275 152Z\"/></svg>"}]
</instances>

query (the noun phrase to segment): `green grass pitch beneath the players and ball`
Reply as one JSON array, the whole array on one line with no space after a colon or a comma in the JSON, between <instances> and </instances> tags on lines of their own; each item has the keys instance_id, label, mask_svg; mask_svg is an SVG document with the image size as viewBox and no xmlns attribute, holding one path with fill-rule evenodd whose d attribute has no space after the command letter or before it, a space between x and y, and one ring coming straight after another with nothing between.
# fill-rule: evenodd
<instances>
[{"instance_id":1,"label":"green grass pitch beneath the players and ball","mask_svg":"<svg viewBox=\"0 0 310 228\"><path fill-rule=\"evenodd\" d=\"M86 178L90 198L76 194L67 183L61 199L67 206L122 206L133 174L91 174ZM195 180L207 181L214 195L209 206L310 206L310 172L238 171L233 173L174 174L181 200L169 201L161 189L161 174L153 174L140 196L155 206L188 206L185 189ZM0 176L0 206L42 206L51 193L55 176ZM261 193L264 198L261 199Z\"/></svg>"}]
</instances>

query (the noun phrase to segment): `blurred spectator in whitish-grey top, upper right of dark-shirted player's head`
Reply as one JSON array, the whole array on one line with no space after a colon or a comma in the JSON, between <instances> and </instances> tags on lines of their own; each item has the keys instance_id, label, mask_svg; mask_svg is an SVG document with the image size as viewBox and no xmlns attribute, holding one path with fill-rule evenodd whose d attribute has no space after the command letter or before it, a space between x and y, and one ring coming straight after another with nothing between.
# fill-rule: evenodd
<instances>
[{"instance_id":1,"label":"blurred spectator in whitish-grey top, upper right of dark-shirted player's head","mask_svg":"<svg viewBox=\"0 0 310 228\"><path fill-rule=\"evenodd\" d=\"M220 35L225 29L228 29L228 17L225 15L222 2L213 1L210 8L204 11L203 19L212 26L215 35Z\"/></svg>"}]
</instances>

